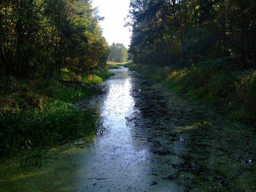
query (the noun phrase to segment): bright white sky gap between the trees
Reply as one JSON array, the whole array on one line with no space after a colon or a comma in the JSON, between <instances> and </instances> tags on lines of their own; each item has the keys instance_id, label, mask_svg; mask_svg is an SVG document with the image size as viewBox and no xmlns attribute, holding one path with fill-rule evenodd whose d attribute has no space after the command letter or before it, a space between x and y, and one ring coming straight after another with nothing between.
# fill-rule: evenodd
<instances>
[{"instance_id":1,"label":"bright white sky gap between the trees","mask_svg":"<svg viewBox=\"0 0 256 192\"><path fill-rule=\"evenodd\" d=\"M124 18L128 15L129 5L130 0L92 0L92 6L98 6L98 15L105 17L100 26L108 44L123 43L128 48L131 32L124 27Z\"/></svg>"}]
</instances>

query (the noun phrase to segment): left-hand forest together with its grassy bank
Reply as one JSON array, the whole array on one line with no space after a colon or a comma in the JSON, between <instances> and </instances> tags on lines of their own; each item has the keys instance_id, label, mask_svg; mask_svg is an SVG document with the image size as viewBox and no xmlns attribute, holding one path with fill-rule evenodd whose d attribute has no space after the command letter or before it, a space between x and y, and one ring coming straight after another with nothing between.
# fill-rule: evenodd
<instances>
[{"instance_id":1,"label":"left-hand forest together with its grassy bank","mask_svg":"<svg viewBox=\"0 0 256 192\"><path fill-rule=\"evenodd\" d=\"M0 1L1 157L94 137L100 119L70 102L113 75L102 19L87 0Z\"/></svg>"}]
</instances>

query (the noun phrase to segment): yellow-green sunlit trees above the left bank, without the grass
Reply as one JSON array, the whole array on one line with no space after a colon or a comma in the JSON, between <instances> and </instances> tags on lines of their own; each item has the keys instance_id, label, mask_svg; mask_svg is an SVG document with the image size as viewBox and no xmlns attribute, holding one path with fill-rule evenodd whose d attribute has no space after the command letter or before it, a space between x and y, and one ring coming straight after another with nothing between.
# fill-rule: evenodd
<instances>
[{"instance_id":1,"label":"yellow-green sunlit trees above the left bank, without the grass","mask_svg":"<svg viewBox=\"0 0 256 192\"><path fill-rule=\"evenodd\" d=\"M0 0L0 69L6 79L106 62L109 47L89 0Z\"/></svg>"}]
</instances>

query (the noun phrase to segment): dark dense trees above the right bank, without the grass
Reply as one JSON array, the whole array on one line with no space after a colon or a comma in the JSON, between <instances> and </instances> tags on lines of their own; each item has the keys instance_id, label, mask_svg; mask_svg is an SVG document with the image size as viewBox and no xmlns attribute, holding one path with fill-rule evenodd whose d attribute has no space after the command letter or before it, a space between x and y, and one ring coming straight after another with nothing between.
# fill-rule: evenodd
<instances>
[{"instance_id":1,"label":"dark dense trees above the right bank, without the grass","mask_svg":"<svg viewBox=\"0 0 256 192\"><path fill-rule=\"evenodd\" d=\"M134 62L198 64L228 58L255 68L256 1L131 0Z\"/></svg>"}]
</instances>

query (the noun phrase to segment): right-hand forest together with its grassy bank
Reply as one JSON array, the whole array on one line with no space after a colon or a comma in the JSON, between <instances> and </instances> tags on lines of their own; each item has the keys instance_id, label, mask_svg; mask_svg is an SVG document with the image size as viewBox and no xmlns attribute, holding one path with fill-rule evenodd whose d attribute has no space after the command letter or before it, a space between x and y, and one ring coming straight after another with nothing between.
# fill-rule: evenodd
<instances>
[{"instance_id":1,"label":"right-hand forest together with its grassy bank","mask_svg":"<svg viewBox=\"0 0 256 192\"><path fill-rule=\"evenodd\" d=\"M255 8L253 0L131 0L132 60L176 92L253 123Z\"/></svg>"}]
</instances>

